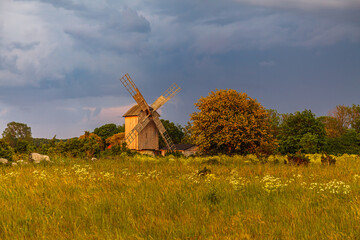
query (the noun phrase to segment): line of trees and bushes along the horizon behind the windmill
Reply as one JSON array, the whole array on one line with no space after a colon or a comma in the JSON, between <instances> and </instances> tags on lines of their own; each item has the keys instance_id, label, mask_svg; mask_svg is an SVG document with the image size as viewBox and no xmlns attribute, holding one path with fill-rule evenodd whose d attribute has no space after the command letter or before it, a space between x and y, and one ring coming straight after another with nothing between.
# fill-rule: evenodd
<instances>
[{"instance_id":1,"label":"line of trees and bushes along the horizon behind the windmill","mask_svg":"<svg viewBox=\"0 0 360 240\"><path fill-rule=\"evenodd\" d=\"M320 117L308 109L281 114L235 90L217 90L195 105L199 111L184 127L161 121L175 144L195 144L204 154L360 154L360 105L338 105ZM73 157L120 154L129 151L124 132L124 125L110 123L71 139L32 138L29 126L10 122L0 140L0 158L31 151Z\"/></svg>"}]
</instances>

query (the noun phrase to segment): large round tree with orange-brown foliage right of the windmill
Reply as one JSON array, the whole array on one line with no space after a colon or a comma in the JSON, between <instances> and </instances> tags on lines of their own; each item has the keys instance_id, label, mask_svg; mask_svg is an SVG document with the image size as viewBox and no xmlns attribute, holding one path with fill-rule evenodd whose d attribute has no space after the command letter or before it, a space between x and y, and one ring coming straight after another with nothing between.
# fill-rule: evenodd
<instances>
[{"instance_id":1,"label":"large round tree with orange-brown foliage right of the windmill","mask_svg":"<svg viewBox=\"0 0 360 240\"><path fill-rule=\"evenodd\" d=\"M195 106L191 133L203 152L247 154L276 147L268 112L246 93L212 91Z\"/></svg>"}]
</instances>

